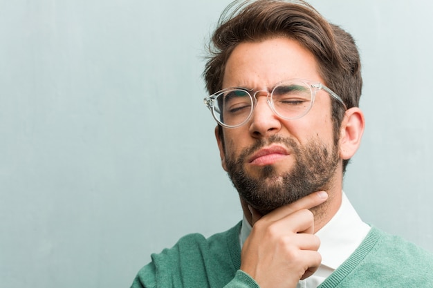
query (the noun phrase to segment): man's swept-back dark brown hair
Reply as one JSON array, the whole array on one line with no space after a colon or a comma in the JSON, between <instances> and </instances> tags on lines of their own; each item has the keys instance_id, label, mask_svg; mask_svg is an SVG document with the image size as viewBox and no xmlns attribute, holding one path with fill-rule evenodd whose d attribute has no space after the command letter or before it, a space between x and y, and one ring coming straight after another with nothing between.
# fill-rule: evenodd
<instances>
[{"instance_id":1,"label":"man's swept-back dark brown hair","mask_svg":"<svg viewBox=\"0 0 433 288\"><path fill-rule=\"evenodd\" d=\"M353 37L322 17L304 1L234 1L223 11L212 35L203 76L208 93L222 88L225 64L234 48L247 41L288 37L309 50L317 61L325 85L337 93L347 108L359 105L361 64ZM338 142L344 109L332 105L334 141ZM223 137L220 127L220 135ZM343 161L343 171L348 160Z\"/></svg>"}]
</instances>

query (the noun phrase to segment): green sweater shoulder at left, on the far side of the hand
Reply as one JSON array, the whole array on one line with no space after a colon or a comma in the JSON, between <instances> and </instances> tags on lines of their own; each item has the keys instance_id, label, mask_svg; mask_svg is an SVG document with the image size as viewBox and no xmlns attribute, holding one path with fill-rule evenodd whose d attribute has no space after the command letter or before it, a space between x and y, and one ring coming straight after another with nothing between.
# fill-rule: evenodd
<instances>
[{"instance_id":1,"label":"green sweater shoulder at left, on the far side of the hand","mask_svg":"<svg viewBox=\"0 0 433 288\"><path fill-rule=\"evenodd\" d=\"M134 280L147 284L135 287L208 287L229 282L240 267L240 227L239 222L209 238L199 233L183 236L172 248L151 255L151 262Z\"/></svg>"}]
</instances>

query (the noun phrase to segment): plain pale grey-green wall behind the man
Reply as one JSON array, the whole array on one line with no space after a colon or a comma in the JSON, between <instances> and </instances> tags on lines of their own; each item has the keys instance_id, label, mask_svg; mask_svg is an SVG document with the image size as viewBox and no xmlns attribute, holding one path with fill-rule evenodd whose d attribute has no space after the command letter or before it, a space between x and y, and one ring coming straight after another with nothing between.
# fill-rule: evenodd
<instances>
[{"instance_id":1,"label":"plain pale grey-green wall behind the man","mask_svg":"<svg viewBox=\"0 0 433 288\"><path fill-rule=\"evenodd\" d=\"M433 251L433 1L311 3L364 64L344 189ZM226 4L0 0L0 287L129 287L151 252L241 219L202 104Z\"/></svg>"}]
</instances>

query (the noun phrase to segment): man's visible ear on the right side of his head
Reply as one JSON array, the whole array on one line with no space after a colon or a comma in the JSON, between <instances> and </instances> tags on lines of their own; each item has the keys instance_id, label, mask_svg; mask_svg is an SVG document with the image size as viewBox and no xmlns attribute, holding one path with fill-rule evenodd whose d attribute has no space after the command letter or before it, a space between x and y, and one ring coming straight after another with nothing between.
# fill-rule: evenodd
<instances>
[{"instance_id":1,"label":"man's visible ear on the right side of his head","mask_svg":"<svg viewBox=\"0 0 433 288\"><path fill-rule=\"evenodd\" d=\"M355 155L361 144L364 133L364 114L358 107L350 108L344 113L340 128L340 157L344 160Z\"/></svg>"}]
</instances>

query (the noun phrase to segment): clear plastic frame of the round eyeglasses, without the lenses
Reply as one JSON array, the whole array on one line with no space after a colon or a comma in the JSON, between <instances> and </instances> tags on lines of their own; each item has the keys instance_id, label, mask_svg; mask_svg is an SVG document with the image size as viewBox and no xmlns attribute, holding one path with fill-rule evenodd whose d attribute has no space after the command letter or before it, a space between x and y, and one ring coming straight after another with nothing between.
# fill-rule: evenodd
<instances>
[{"instance_id":1,"label":"clear plastic frame of the round eyeglasses, without the lenses","mask_svg":"<svg viewBox=\"0 0 433 288\"><path fill-rule=\"evenodd\" d=\"M297 116L297 117L284 117L282 115L279 115L279 113L277 113L277 111L275 110L275 107L273 105L273 101L271 101L273 92L275 90L275 87L279 86L279 84L282 84L284 82L288 82L288 81L302 81L304 84L308 85L308 88L310 88L311 91L311 104L308 107L308 109L306 109L306 111L304 113L302 113L301 115ZM218 99L218 97L220 95L222 95L222 93L224 93L225 91L228 90L242 90L246 93L248 93L248 95L250 96L250 99L252 100L252 108L250 111L250 114L246 117L246 119L241 122L241 124L237 124L237 125L228 125L228 124L224 124L223 122L221 122L221 120L219 119L219 117L216 117L215 115L215 103L216 103L216 99ZM205 104L206 107L209 108L210 112L212 113L212 116L214 117L214 119L216 120L216 122L218 122L218 124L220 124L221 126L225 127L225 128L238 128L240 126L243 126L244 124L246 124L246 122L248 122L251 118L252 113L254 112L255 106L257 105L257 98L256 95L259 92L266 92L266 103L268 103L268 106L270 107L270 110L277 115L278 117L282 118L282 119L286 119L286 120L295 120L295 119L300 119L302 117L304 117L306 114L308 114L308 112L310 112L311 108L313 108L313 104L315 101L315 95L317 93L317 90L324 90L329 96L331 96L331 98L337 100L340 104L342 104L342 106L344 107L344 111L347 111L347 106L346 104L344 104L343 99L337 95L337 93L333 92L333 90L331 90L330 88L324 86L324 84L320 83L320 82L315 82L312 83L311 81L305 80L305 79L286 79L283 81L279 81L277 84L275 84L272 88L272 90L269 92L269 90L257 90L252 94L252 91L254 91L254 88L252 89L248 89L248 88L242 88L242 87L229 87L229 88L224 88L222 90L217 91L216 93L213 93L212 95L205 97L203 99L203 102Z\"/></svg>"}]
</instances>

